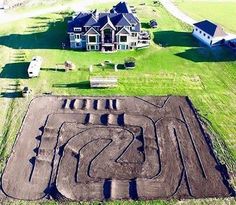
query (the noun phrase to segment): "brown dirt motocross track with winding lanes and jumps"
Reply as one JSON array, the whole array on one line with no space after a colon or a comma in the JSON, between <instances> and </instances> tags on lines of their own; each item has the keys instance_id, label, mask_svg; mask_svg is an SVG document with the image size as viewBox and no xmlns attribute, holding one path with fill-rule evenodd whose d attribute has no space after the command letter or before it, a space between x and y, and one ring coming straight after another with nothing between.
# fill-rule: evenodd
<instances>
[{"instance_id":1,"label":"brown dirt motocross track with winding lanes and jumps","mask_svg":"<svg viewBox=\"0 0 236 205\"><path fill-rule=\"evenodd\" d=\"M39 97L2 176L24 200L230 195L186 97Z\"/></svg>"}]
</instances>

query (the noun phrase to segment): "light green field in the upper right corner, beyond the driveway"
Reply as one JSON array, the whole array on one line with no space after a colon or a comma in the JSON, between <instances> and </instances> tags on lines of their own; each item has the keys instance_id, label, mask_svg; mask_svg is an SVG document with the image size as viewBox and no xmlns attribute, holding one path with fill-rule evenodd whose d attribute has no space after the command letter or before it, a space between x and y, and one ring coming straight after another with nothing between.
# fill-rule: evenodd
<instances>
[{"instance_id":1,"label":"light green field in the upper right corner, beyond the driveway","mask_svg":"<svg viewBox=\"0 0 236 205\"><path fill-rule=\"evenodd\" d=\"M196 20L209 19L236 33L236 0L173 0L186 14Z\"/></svg>"}]
</instances>

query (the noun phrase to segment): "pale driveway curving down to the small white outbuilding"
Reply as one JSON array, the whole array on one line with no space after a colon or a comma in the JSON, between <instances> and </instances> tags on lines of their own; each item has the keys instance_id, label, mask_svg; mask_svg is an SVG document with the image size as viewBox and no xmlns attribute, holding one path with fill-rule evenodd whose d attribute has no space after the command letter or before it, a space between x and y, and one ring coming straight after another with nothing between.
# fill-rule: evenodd
<instances>
[{"instance_id":1,"label":"pale driveway curving down to the small white outbuilding","mask_svg":"<svg viewBox=\"0 0 236 205\"><path fill-rule=\"evenodd\" d=\"M197 22L191 17L187 16L185 13L183 13L177 6L174 5L171 0L160 0L160 2L169 13L171 13L174 17L181 20L182 22L190 26Z\"/></svg>"}]
</instances>

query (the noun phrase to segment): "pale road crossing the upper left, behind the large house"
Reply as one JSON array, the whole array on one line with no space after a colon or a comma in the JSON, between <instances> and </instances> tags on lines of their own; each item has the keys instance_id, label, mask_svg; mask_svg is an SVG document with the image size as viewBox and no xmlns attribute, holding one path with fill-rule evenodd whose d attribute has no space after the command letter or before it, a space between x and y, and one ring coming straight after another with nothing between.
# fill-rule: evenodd
<instances>
[{"instance_id":1,"label":"pale road crossing the upper left, behind the large house","mask_svg":"<svg viewBox=\"0 0 236 205\"><path fill-rule=\"evenodd\" d=\"M68 3L63 6L55 6L55 7L50 7L50 8L45 8L45 9L40 9L28 13L23 13L23 14L7 14L7 13L2 13L0 14L0 24L5 24L5 23L10 23L14 22L17 20L25 19L25 18L32 18L32 17L37 17L37 16L42 16L45 14L49 13L55 13L55 12L60 12L60 11L65 11L68 9L74 10L74 11L83 11L86 9L86 7L93 5L93 4L102 4L106 2L110 2L112 0L82 0L79 3Z\"/></svg>"}]
</instances>

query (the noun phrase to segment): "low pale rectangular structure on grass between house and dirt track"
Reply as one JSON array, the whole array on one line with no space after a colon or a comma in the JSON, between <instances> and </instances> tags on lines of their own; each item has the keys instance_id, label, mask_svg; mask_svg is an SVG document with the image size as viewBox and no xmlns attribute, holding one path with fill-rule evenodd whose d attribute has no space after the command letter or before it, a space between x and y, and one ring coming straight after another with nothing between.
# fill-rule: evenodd
<instances>
[{"instance_id":1,"label":"low pale rectangular structure on grass between house and dirt track","mask_svg":"<svg viewBox=\"0 0 236 205\"><path fill-rule=\"evenodd\" d=\"M118 86L117 77L91 77L90 87L91 88L111 88Z\"/></svg>"}]
</instances>

